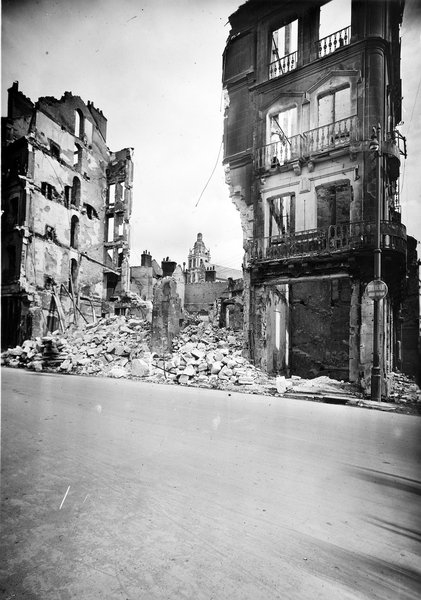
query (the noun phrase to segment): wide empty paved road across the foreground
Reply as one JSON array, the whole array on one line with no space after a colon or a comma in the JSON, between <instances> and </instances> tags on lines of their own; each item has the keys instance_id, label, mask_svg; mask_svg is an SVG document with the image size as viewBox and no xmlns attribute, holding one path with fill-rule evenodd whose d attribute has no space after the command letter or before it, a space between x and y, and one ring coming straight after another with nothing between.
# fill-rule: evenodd
<instances>
[{"instance_id":1,"label":"wide empty paved road across the foreground","mask_svg":"<svg viewBox=\"0 0 421 600\"><path fill-rule=\"evenodd\" d=\"M0 597L413 600L419 417L2 369Z\"/></svg>"}]
</instances>

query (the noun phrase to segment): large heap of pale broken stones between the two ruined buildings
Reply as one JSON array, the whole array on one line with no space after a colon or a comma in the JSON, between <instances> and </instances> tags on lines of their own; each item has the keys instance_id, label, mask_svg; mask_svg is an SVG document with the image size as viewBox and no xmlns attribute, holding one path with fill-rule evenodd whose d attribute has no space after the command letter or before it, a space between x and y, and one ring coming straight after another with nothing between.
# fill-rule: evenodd
<instances>
[{"instance_id":1,"label":"large heap of pale broken stones between the two ruined buildings","mask_svg":"<svg viewBox=\"0 0 421 600\"><path fill-rule=\"evenodd\" d=\"M203 322L187 325L173 340L173 351L163 356L150 350L146 320L113 316L83 329L26 340L3 352L2 364L210 388L247 386L259 393L276 391L269 376L242 356L242 334Z\"/></svg>"}]
</instances>

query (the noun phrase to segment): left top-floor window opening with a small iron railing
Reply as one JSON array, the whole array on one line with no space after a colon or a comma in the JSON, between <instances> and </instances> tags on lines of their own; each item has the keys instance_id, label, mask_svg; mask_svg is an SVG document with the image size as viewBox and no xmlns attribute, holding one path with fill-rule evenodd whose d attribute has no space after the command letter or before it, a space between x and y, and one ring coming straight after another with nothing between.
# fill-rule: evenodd
<instances>
[{"instance_id":1,"label":"left top-floor window opening with a small iron railing","mask_svg":"<svg viewBox=\"0 0 421 600\"><path fill-rule=\"evenodd\" d=\"M279 77L297 67L298 21L272 31L269 77Z\"/></svg>"}]
</instances>

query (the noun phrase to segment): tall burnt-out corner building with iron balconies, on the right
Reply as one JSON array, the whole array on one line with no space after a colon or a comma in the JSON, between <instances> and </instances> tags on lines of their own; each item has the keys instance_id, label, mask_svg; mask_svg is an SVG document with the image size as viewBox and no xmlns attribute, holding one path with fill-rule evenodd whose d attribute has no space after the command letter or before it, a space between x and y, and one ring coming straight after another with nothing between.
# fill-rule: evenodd
<instances>
[{"instance_id":1,"label":"tall burnt-out corner building with iron balconies, on the right","mask_svg":"<svg viewBox=\"0 0 421 600\"><path fill-rule=\"evenodd\" d=\"M405 336L418 322L402 310L418 277L399 203L402 14L401 0L249 0L229 19L224 165L247 350L270 372L369 387L377 214L382 369L417 362Z\"/></svg>"}]
</instances>

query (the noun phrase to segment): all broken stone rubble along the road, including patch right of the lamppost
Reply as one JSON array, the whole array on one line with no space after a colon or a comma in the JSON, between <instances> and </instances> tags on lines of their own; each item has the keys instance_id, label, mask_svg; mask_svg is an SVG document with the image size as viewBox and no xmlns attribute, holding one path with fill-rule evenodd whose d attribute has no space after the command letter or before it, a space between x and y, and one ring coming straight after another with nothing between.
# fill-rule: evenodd
<instances>
[{"instance_id":1,"label":"all broken stone rubble along the road, including patch right of the lamppost","mask_svg":"<svg viewBox=\"0 0 421 600\"><path fill-rule=\"evenodd\" d=\"M196 321L173 340L171 353L158 355L150 349L148 321L113 316L64 333L26 340L22 346L3 352L1 364L316 401L346 403L353 399L358 403L362 399L356 386L326 376L271 377L244 358L242 348L242 334ZM413 381L393 373L389 384L389 400L396 408L401 412L420 412L421 391Z\"/></svg>"}]
</instances>

